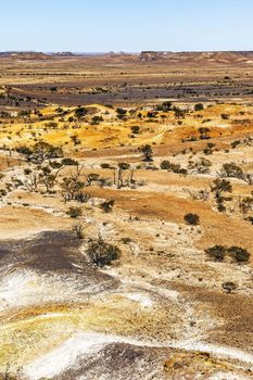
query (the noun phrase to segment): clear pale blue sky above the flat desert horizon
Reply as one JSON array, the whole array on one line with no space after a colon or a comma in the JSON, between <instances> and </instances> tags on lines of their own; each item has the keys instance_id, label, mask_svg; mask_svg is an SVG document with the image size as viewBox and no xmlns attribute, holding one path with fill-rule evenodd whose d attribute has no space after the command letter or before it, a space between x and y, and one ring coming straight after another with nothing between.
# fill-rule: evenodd
<instances>
[{"instance_id":1,"label":"clear pale blue sky above the flat desert horizon","mask_svg":"<svg viewBox=\"0 0 253 380\"><path fill-rule=\"evenodd\" d=\"M0 51L253 50L253 0L0 2Z\"/></svg>"}]
</instances>

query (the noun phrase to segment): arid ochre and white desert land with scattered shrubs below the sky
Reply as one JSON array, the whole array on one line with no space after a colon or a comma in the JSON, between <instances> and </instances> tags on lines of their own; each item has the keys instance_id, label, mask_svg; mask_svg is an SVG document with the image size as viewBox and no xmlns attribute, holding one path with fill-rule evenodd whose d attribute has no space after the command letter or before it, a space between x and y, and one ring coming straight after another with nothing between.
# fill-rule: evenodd
<instances>
[{"instance_id":1,"label":"arid ochre and white desert land with scattered shrubs below the sky","mask_svg":"<svg viewBox=\"0 0 253 380\"><path fill-rule=\"evenodd\" d=\"M253 378L253 52L0 54L0 379Z\"/></svg>"}]
</instances>

